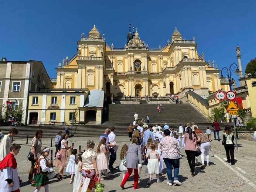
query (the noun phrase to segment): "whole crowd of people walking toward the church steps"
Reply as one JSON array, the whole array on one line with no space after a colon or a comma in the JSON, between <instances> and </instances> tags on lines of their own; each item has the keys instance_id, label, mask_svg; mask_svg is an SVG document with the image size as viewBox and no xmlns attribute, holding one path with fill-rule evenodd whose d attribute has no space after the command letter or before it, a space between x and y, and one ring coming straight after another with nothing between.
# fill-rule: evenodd
<instances>
[{"instance_id":1,"label":"whole crowd of people walking toward the church steps","mask_svg":"<svg viewBox=\"0 0 256 192\"><path fill-rule=\"evenodd\" d=\"M218 123L215 121L212 126L217 132ZM0 191L20 191L15 155L18 155L21 146L11 144L11 138L17 134L18 130L12 128L0 143ZM76 149L68 146L69 134L62 135L60 131L55 138L54 165L59 168L57 173L54 172L48 158L50 148L42 148L42 141L40 140L42 134L42 130L35 133L28 155L28 159L31 161L28 181L31 182L31 186L35 187L35 192L39 192L42 187L44 187L45 192L49 191L50 175L54 175L59 180L65 179L65 167L66 173L71 174L69 183L73 184L73 192L85 190L84 188L87 186L83 184L86 178L94 179L95 176L98 176L100 180L104 180L111 177L107 169L110 171L115 169L113 164L117 158L116 151L119 147L115 142L114 127L106 128L105 133L100 136L99 145L96 148L95 142L88 140L84 152L79 153ZM134 172L134 189L140 188L138 182L143 161L147 162L145 172L149 174L148 185L151 184L153 175L156 175L157 183L162 182L160 176L163 175L164 164L167 168L167 185L182 185L179 181L180 159L183 158L181 150L184 148L191 176L195 176L195 161L197 161L196 157L199 156L198 149L201 151L201 168L209 166L210 135L209 128L206 133L202 133L194 123L192 123L192 126L190 126L190 123L185 124L185 126L180 124L178 131L170 128L166 123L163 128L160 124L153 127L147 123L143 125L136 123L135 126L131 124L128 128L128 137L131 143L129 146L123 145L120 152L122 161L119 169L123 171L120 187L125 189L126 182ZM218 132L217 136L219 139ZM181 140L182 147L180 147ZM232 128L226 126L223 131L222 144L226 150L227 162L232 165L235 164L233 140ZM200 148L198 148L199 145ZM68 151L70 151L69 160ZM10 170L13 174L8 174ZM105 178L103 178L103 174Z\"/></svg>"}]
</instances>

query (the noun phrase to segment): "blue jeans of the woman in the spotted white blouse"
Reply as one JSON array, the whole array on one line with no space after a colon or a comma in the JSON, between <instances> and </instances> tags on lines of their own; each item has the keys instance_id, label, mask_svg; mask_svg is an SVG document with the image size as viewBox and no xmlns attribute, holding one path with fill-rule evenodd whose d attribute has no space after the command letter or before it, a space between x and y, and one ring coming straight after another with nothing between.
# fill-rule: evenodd
<instances>
[{"instance_id":1,"label":"blue jeans of the woman in the spotted white blouse","mask_svg":"<svg viewBox=\"0 0 256 192\"><path fill-rule=\"evenodd\" d=\"M173 168L174 168L174 180L178 180L179 176L179 171L180 171L180 159L168 159L168 158L163 158L164 163L167 168L167 176L169 182L173 181Z\"/></svg>"}]
</instances>

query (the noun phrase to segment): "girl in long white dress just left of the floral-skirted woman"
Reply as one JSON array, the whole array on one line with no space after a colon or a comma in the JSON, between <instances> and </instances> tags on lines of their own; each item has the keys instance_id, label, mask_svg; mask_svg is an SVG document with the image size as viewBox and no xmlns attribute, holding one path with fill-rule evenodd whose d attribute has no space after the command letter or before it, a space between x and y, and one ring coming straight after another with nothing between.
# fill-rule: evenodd
<instances>
[{"instance_id":1,"label":"girl in long white dress just left of the floral-skirted woman","mask_svg":"<svg viewBox=\"0 0 256 192\"><path fill-rule=\"evenodd\" d=\"M75 167L75 176L73 182L73 192L79 192L79 188L82 183L82 152L79 152L77 160L76 160L76 167Z\"/></svg>"}]
</instances>

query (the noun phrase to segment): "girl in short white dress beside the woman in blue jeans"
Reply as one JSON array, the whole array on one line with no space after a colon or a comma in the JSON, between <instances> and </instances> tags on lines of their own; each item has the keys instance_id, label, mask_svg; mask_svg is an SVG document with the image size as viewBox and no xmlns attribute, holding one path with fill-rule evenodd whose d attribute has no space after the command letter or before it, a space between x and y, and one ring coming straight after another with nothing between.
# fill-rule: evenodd
<instances>
[{"instance_id":1,"label":"girl in short white dress beside the woman in blue jeans","mask_svg":"<svg viewBox=\"0 0 256 192\"><path fill-rule=\"evenodd\" d=\"M147 168L146 168L146 173L149 174L149 181L147 182L147 184L150 185L151 183L151 179L153 174L156 174L157 176L157 183L160 183L160 179L159 179L159 161L160 161L160 157L158 152L155 151L156 150L156 145L154 143L151 144L151 151L149 153L149 159L150 161L147 164Z\"/></svg>"}]
</instances>

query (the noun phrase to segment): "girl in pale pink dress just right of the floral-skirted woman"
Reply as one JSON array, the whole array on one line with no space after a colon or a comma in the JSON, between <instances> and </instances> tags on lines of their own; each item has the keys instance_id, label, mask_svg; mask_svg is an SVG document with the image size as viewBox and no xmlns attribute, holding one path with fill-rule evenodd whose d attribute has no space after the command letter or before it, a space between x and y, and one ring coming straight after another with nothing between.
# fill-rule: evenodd
<instances>
[{"instance_id":1,"label":"girl in pale pink dress just right of the floral-skirted woman","mask_svg":"<svg viewBox=\"0 0 256 192\"><path fill-rule=\"evenodd\" d=\"M97 148L97 167L99 170L100 180L104 180L103 178L101 178L102 171L106 175L106 179L110 177L110 174L107 174L106 171L108 168L107 156L109 155L109 151L107 151L106 149L106 140L106 137L103 137L102 140L100 140Z\"/></svg>"}]
</instances>

